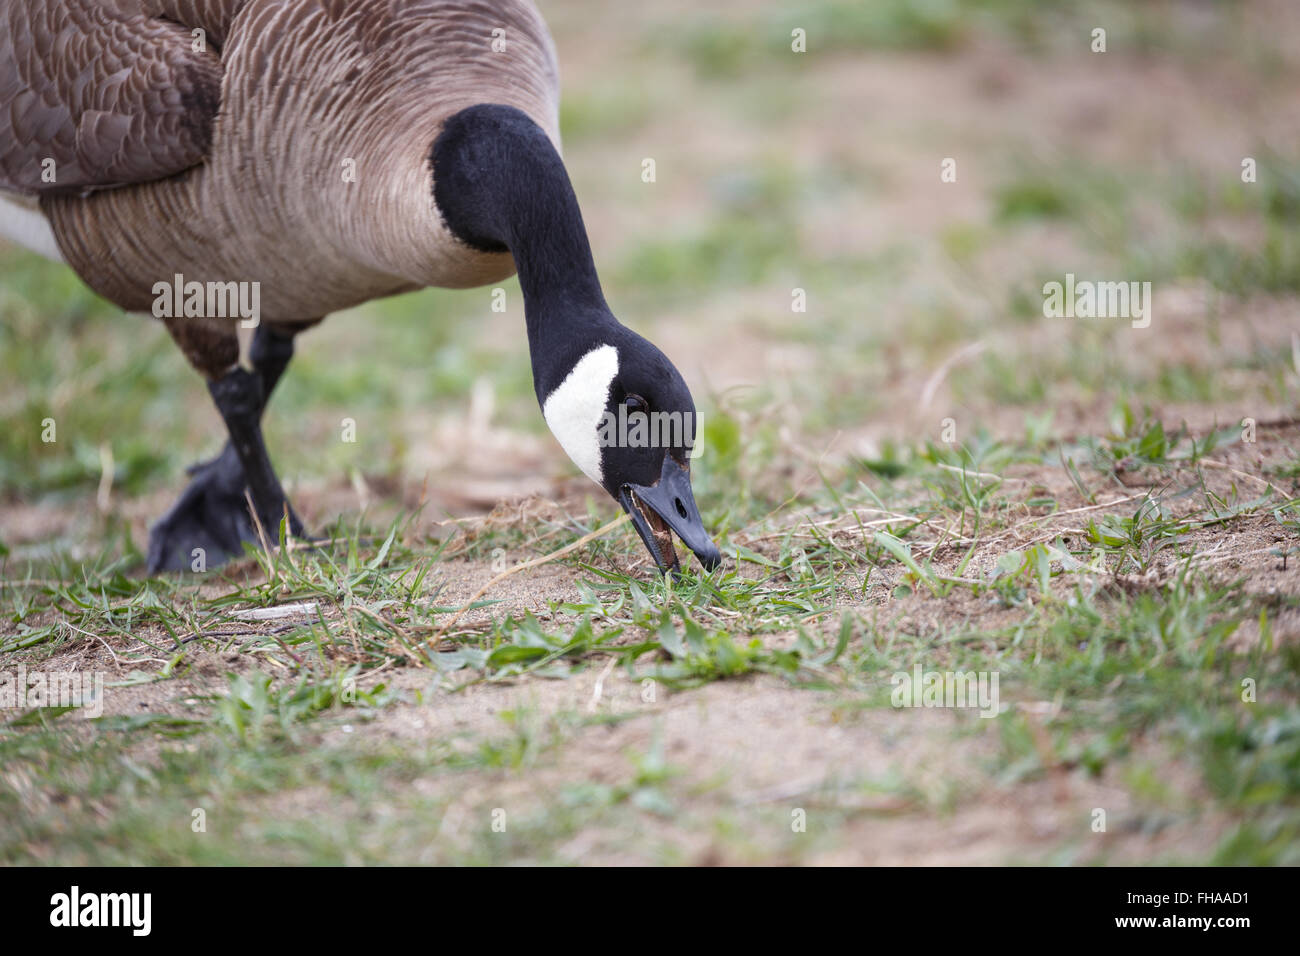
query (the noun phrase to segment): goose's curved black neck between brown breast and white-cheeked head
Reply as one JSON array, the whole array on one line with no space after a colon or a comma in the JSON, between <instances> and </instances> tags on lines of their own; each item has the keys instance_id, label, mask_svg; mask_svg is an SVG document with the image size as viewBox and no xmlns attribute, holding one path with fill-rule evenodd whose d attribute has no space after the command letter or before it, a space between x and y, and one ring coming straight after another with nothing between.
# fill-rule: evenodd
<instances>
[{"instance_id":1,"label":"goose's curved black neck between brown breast and white-cheeked head","mask_svg":"<svg viewBox=\"0 0 1300 956\"><path fill-rule=\"evenodd\" d=\"M454 114L433 144L433 182L456 238L514 255L534 350L543 329L569 338L612 321L564 163L525 113L482 104Z\"/></svg>"}]
</instances>

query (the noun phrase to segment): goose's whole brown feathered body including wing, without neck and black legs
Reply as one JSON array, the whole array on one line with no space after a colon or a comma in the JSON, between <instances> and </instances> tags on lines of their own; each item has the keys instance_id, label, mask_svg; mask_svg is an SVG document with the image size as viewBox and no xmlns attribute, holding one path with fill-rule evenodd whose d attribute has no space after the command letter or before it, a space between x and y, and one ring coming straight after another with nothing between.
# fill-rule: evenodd
<instances>
[{"instance_id":1,"label":"goose's whole brown feathered body including wing, without neck and black legs","mask_svg":"<svg viewBox=\"0 0 1300 956\"><path fill-rule=\"evenodd\" d=\"M9 14L22 30L0 48L0 105L21 108L25 144L0 155L0 185L38 189L31 157L77 157L78 144L82 182L126 183L42 198L69 264L122 308L148 311L155 284L179 273L260 282L265 320L315 321L382 295L482 285L514 271L508 254L474 251L447 230L429 152L445 120L478 103L521 109L558 144L554 47L532 3L23 7L26 17ZM96 18L90 7L104 10ZM52 25L69 17L77 31L57 34ZM195 27L213 40L202 56L190 52ZM504 52L493 51L495 29ZM213 64L218 107L203 100ZM0 118L0 131L5 124L13 129ZM211 143L199 135L205 129ZM169 325L205 375L229 367L233 320Z\"/></svg>"}]
</instances>

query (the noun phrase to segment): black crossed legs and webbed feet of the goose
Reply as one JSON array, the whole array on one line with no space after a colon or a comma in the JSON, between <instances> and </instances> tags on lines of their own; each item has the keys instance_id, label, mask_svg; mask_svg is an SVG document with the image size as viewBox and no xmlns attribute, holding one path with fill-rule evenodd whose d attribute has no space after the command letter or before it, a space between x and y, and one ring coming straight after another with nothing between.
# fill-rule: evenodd
<instances>
[{"instance_id":1,"label":"black crossed legs and webbed feet of the goose","mask_svg":"<svg viewBox=\"0 0 1300 956\"><path fill-rule=\"evenodd\" d=\"M208 390L226 423L230 441L216 458L194 466L194 480L150 531L148 570L183 571L216 567L243 554L243 542L256 542L244 489L257 520L276 538L289 509L280 479L261 436L266 399L294 354L296 329L259 326L250 354L254 371L235 367L209 382ZM302 535L298 515L289 509L289 531Z\"/></svg>"}]
</instances>

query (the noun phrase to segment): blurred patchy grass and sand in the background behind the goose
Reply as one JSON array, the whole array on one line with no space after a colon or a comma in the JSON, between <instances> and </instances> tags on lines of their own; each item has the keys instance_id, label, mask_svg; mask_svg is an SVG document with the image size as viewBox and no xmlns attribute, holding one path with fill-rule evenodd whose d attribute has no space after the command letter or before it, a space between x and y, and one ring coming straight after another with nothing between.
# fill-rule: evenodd
<instances>
[{"instance_id":1,"label":"blurred patchy grass and sand in the background behind the goose","mask_svg":"<svg viewBox=\"0 0 1300 956\"><path fill-rule=\"evenodd\" d=\"M607 297L712 423L706 510L737 470L780 501L789 463L833 436L852 460L946 416L1006 432L1050 408L1070 431L1118 403L1219 421L1294 407L1295 4L540 5ZM1105 53L1089 51L1097 26ZM1153 328L1044 320L1041 285L1066 272L1154 282ZM359 488L411 503L429 476L437 515L576 473L537 412L517 284L503 287L503 315L490 289L428 290L300 339L266 421L299 510L330 520ZM918 407L971 342L983 352ZM83 532L105 445L110 509L142 537L182 467L220 444L160 325L12 247L0 372L0 541ZM346 418L356 444L339 440Z\"/></svg>"}]
</instances>

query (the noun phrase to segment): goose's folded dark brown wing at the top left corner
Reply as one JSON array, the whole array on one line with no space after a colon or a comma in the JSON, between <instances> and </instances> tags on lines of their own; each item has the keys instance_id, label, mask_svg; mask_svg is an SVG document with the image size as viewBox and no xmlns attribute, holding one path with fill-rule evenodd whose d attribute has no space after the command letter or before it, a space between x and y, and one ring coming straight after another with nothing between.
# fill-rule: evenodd
<instances>
[{"instance_id":1,"label":"goose's folded dark brown wing at the top left corner","mask_svg":"<svg viewBox=\"0 0 1300 956\"><path fill-rule=\"evenodd\" d=\"M122 186L202 163L243 3L0 4L0 189Z\"/></svg>"}]
</instances>

